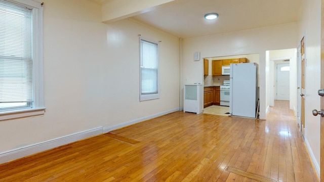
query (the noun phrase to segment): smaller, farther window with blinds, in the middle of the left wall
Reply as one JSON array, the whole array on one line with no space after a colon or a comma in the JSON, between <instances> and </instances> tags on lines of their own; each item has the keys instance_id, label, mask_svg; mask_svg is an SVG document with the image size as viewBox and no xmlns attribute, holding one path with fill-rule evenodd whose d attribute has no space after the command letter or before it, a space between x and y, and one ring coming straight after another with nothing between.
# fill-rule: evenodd
<instances>
[{"instance_id":1,"label":"smaller, farther window with blinds, in the middle of the left wall","mask_svg":"<svg viewBox=\"0 0 324 182\"><path fill-rule=\"evenodd\" d=\"M158 44L140 38L140 101L158 98Z\"/></svg>"}]
</instances>

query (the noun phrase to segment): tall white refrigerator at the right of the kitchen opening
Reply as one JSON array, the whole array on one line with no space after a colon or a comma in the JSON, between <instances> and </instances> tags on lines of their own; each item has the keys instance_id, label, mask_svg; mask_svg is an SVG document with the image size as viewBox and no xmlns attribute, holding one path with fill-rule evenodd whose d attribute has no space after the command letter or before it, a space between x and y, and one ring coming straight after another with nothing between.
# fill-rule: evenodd
<instances>
[{"instance_id":1,"label":"tall white refrigerator at the right of the kitchen opening","mask_svg":"<svg viewBox=\"0 0 324 182\"><path fill-rule=\"evenodd\" d=\"M256 117L257 63L230 64L229 113L233 116Z\"/></svg>"}]
</instances>

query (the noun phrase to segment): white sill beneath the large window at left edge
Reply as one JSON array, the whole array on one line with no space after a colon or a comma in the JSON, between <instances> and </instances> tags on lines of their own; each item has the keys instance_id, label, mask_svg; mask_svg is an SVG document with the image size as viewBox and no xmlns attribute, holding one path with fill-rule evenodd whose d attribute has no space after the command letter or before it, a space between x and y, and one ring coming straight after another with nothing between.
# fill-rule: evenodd
<instances>
[{"instance_id":1,"label":"white sill beneath the large window at left edge","mask_svg":"<svg viewBox=\"0 0 324 182\"><path fill-rule=\"evenodd\" d=\"M45 108L24 109L0 113L0 121L44 115Z\"/></svg>"}]
</instances>

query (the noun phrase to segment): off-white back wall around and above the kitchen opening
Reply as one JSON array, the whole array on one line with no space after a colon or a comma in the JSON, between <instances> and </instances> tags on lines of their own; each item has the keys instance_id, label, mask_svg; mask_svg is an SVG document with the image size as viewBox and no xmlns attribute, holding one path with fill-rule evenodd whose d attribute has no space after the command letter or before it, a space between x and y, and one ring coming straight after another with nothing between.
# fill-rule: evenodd
<instances>
[{"instance_id":1,"label":"off-white back wall around and above the kitchen opening","mask_svg":"<svg viewBox=\"0 0 324 182\"><path fill-rule=\"evenodd\" d=\"M182 40L182 85L203 82L203 59L193 61L193 53L201 58L259 54L260 118L266 118L269 93L266 93L266 51L297 47L297 23L280 24L258 29L184 38Z\"/></svg>"}]
</instances>

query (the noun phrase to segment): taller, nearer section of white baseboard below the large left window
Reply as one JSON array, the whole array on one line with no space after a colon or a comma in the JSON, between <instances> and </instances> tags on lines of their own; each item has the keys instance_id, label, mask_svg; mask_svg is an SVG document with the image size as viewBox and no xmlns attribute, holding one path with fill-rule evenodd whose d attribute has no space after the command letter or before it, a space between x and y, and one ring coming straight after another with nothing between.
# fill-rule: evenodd
<instances>
[{"instance_id":1,"label":"taller, nearer section of white baseboard below the large left window","mask_svg":"<svg viewBox=\"0 0 324 182\"><path fill-rule=\"evenodd\" d=\"M51 139L48 141L31 144L28 146L24 146L21 148L16 148L13 150L5 151L0 153L0 164L9 162L15 159L19 159L25 156L29 156L32 154L36 154L38 152L46 151L49 149L53 149L62 145L66 145L72 142L76 142L82 139L89 138L91 136L95 136L102 133L102 127L97 127L81 132L76 132L73 134L69 134L66 136L62 136L60 138Z\"/></svg>"}]
</instances>

